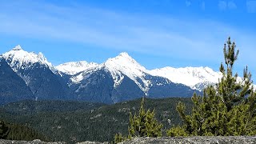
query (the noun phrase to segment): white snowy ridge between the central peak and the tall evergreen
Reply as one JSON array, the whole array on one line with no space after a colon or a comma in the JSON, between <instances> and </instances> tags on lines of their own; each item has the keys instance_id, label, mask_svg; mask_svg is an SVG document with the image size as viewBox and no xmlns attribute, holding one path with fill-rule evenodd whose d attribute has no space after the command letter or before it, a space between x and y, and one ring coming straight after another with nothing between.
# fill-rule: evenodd
<instances>
[{"instance_id":1,"label":"white snowy ridge between the central peak and the tall evergreen","mask_svg":"<svg viewBox=\"0 0 256 144\"><path fill-rule=\"evenodd\" d=\"M209 67L164 67L162 69L149 70L149 74L170 79L175 83L182 83L195 90L202 90L209 84L217 83L222 78L220 72L215 72Z\"/></svg>"}]
</instances>

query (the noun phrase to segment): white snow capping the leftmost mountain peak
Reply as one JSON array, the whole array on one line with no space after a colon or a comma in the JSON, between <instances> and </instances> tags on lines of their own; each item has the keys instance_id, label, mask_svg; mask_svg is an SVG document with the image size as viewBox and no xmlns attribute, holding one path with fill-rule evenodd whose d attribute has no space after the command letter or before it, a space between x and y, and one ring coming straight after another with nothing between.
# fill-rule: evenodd
<instances>
[{"instance_id":1,"label":"white snow capping the leftmost mountain peak","mask_svg":"<svg viewBox=\"0 0 256 144\"><path fill-rule=\"evenodd\" d=\"M24 69L26 66L30 66L36 62L39 62L42 65L48 66L50 70L54 73L56 72L54 66L50 62L47 61L46 57L39 52L35 54L34 52L27 52L22 50L21 46L15 46L9 52L2 54L2 57L6 59L6 61L10 61L10 66L16 72L19 69Z\"/></svg>"}]
</instances>

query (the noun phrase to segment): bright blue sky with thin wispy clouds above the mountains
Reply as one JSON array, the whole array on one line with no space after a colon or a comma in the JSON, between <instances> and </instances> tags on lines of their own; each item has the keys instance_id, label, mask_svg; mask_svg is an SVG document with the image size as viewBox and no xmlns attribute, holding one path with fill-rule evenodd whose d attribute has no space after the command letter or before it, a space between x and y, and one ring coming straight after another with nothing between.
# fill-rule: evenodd
<instances>
[{"instance_id":1,"label":"bright blue sky with thin wispy clouds above the mountains","mask_svg":"<svg viewBox=\"0 0 256 144\"><path fill-rule=\"evenodd\" d=\"M126 51L147 69L218 70L226 38L256 78L256 0L0 0L0 53L16 45L54 65ZM255 79L256 81L256 79Z\"/></svg>"}]
</instances>

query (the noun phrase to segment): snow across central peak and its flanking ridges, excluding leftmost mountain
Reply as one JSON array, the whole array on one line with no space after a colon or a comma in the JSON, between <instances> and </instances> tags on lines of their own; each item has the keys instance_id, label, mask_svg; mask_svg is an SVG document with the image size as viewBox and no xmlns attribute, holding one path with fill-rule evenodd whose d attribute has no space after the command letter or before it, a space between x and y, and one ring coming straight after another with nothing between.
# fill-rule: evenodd
<instances>
[{"instance_id":1,"label":"snow across central peak and its flanking ridges, excluding leftmost mountain","mask_svg":"<svg viewBox=\"0 0 256 144\"><path fill-rule=\"evenodd\" d=\"M209 67L185 67L177 69L165 67L156 70L146 70L145 67L141 66L125 52L115 58L107 59L106 62L100 65L95 63L89 64L87 62L83 64L82 62L71 62L57 66L57 68L66 74L73 74L74 76L70 80L74 83L79 83L83 79L88 78L94 71L103 69L110 72L114 79L114 87L116 87L122 83L124 75L126 75L145 94L147 94L151 84L150 79L146 78L148 74L167 78L171 82L190 86L194 90L203 90L209 84L218 82L218 78L221 78L222 75L220 72L215 72Z\"/></svg>"}]
</instances>

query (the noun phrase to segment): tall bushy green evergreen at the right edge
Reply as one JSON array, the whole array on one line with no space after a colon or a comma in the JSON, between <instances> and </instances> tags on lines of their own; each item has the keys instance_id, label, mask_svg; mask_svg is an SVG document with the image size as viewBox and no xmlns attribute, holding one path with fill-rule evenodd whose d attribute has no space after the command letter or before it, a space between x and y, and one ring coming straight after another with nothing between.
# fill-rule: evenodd
<instances>
[{"instance_id":1,"label":"tall bushy green evergreen at the right edge","mask_svg":"<svg viewBox=\"0 0 256 144\"><path fill-rule=\"evenodd\" d=\"M193 95L194 107L190 115L185 114L185 105L178 103L178 114L184 125L168 130L169 136L256 134L256 94L247 66L242 80L237 73L233 74L239 54L235 48L235 43L228 38L223 48L226 66L220 66L222 78L215 86L208 86L203 96Z\"/></svg>"}]
</instances>

